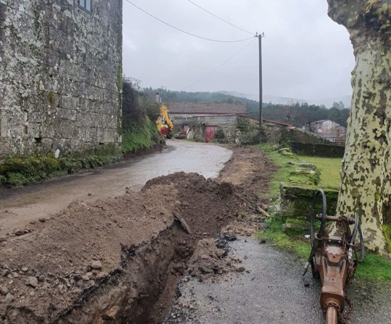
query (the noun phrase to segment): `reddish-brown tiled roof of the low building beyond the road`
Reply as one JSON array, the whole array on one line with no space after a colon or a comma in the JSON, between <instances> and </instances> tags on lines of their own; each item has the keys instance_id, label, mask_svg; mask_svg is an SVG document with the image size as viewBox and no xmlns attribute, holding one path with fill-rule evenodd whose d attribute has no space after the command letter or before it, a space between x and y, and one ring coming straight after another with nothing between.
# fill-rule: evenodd
<instances>
[{"instance_id":1,"label":"reddish-brown tiled roof of the low building beyond the road","mask_svg":"<svg viewBox=\"0 0 391 324\"><path fill-rule=\"evenodd\" d=\"M196 114L227 114L227 113L242 113L246 114L247 109L245 104L232 103L181 103L167 102L163 103L169 113L196 113Z\"/></svg>"}]
</instances>

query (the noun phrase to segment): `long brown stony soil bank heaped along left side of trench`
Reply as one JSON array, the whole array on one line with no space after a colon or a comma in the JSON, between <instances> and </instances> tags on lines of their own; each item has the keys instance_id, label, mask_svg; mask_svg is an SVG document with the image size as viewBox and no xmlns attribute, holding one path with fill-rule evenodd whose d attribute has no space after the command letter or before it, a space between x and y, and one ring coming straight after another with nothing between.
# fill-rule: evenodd
<instances>
[{"instance_id":1,"label":"long brown stony soil bank heaped along left side of trench","mask_svg":"<svg viewBox=\"0 0 391 324\"><path fill-rule=\"evenodd\" d=\"M156 186L63 212L2 238L4 322L58 318L124 266L124 255L172 225L176 192Z\"/></svg>"}]
</instances>

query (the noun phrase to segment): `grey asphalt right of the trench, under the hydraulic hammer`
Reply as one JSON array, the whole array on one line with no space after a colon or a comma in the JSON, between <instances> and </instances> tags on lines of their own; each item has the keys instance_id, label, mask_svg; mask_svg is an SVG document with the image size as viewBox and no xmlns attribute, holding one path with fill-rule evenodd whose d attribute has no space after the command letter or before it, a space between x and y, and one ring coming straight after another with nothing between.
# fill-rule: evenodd
<instances>
[{"instance_id":1,"label":"grey asphalt right of the trench, under the hydraulic hammer","mask_svg":"<svg viewBox=\"0 0 391 324\"><path fill-rule=\"evenodd\" d=\"M243 260L241 265L249 273L227 274L215 282L191 277L181 281L182 296L174 302L166 323L324 323L319 283L310 273L302 278L297 257L254 238L242 238L230 246L230 253ZM349 323L391 323L391 284L356 280L350 296L354 311Z\"/></svg>"}]
</instances>

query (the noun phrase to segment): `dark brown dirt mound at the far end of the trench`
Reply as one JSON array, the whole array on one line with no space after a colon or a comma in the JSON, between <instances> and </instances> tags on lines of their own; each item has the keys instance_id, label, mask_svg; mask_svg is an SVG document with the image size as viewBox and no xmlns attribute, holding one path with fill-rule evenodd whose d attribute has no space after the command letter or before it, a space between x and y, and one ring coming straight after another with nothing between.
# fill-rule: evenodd
<instances>
[{"instance_id":1,"label":"dark brown dirt mound at the far end of the trench","mask_svg":"<svg viewBox=\"0 0 391 324\"><path fill-rule=\"evenodd\" d=\"M213 237L219 229L242 214L252 214L259 199L243 187L205 179L198 173L178 172L147 182L142 191L155 185L177 190L176 210L192 230L192 239Z\"/></svg>"}]
</instances>

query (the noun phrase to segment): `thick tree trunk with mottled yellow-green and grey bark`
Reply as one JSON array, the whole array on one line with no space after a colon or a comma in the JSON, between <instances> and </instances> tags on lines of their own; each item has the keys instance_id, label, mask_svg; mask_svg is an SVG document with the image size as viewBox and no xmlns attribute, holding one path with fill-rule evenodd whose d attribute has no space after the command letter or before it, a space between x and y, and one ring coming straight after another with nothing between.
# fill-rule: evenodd
<instances>
[{"instance_id":1,"label":"thick tree trunk with mottled yellow-green and grey bark","mask_svg":"<svg viewBox=\"0 0 391 324\"><path fill-rule=\"evenodd\" d=\"M391 1L328 5L329 16L349 31L356 58L338 214L358 211L366 247L385 254L383 227L391 223Z\"/></svg>"}]
</instances>

